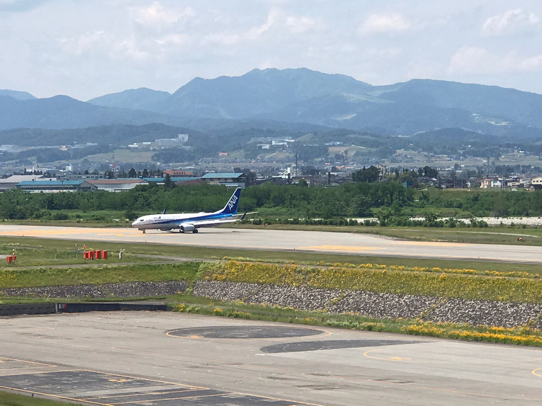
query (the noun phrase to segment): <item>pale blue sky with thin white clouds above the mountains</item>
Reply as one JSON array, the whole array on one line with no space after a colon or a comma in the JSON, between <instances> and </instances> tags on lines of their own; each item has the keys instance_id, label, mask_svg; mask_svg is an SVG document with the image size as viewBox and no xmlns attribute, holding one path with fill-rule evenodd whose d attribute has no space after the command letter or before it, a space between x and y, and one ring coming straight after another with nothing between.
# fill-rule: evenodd
<instances>
[{"instance_id":1,"label":"pale blue sky with thin white clouds above the mountains","mask_svg":"<svg viewBox=\"0 0 542 406\"><path fill-rule=\"evenodd\" d=\"M39 98L299 67L542 93L542 2L0 0L0 89Z\"/></svg>"}]
</instances>

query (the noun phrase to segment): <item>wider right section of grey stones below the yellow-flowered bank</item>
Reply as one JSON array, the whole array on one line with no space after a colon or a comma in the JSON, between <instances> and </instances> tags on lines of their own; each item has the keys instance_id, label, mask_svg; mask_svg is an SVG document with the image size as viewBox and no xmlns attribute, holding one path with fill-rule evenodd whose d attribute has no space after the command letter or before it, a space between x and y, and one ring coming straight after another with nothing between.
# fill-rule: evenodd
<instances>
[{"instance_id":1,"label":"wider right section of grey stones below the yellow-flowered bank","mask_svg":"<svg viewBox=\"0 0 542 406\"><path fill-rule=\"evenodd\" d=\"M274 286L256 283L197 282L193 294L222 300L291 306L330 313L359 313L374 318L421 318L426 321L518 327L536 320L542 328L542 304L444 299L365 291Z\"/></svg>"}]
</instances>

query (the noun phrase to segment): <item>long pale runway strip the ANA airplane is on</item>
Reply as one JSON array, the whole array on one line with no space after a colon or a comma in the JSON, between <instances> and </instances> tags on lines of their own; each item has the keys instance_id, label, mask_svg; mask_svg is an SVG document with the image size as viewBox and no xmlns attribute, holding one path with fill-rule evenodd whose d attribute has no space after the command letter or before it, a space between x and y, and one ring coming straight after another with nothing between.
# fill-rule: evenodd
<instances>
[{"instance_id":1,"label":"long pale runway strip the ANA airplane is on","mask_svg":"<svg viewBox=\"0 0 542 406\"><path fill-rule=\"evenodd\" d=\"M417 258L480 259L542 263L542 247L521 245L414 242L359 233L269 229L204 229L197 234L141 231L128 228L82 228L0 225L0 236L108 241L216 248L331 252ZM82 245L82 244L81 244Z\"/></svg>"}]
</instances>

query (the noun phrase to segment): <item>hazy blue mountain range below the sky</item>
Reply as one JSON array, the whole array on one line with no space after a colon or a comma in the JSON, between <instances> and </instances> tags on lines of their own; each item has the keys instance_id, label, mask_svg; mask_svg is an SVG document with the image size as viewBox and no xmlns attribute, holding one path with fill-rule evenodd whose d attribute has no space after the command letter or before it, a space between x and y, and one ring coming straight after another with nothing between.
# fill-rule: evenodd
<instances>
[{"instance_id":1,"label":"hazy blue mountain range below the sky","mask_svg":"<svg viewBox=\"0 0 542 406\"><path fill-rule=\"evenodd\" d=\"M542 95L511 88L428 79L372 86L306 68L195 78L172 94L138 88L87 102L0 91L0 130L149 123L203 131L310 125L392 135L461 128L542 138L541 113Z\"/></svg>"}]
</instances>

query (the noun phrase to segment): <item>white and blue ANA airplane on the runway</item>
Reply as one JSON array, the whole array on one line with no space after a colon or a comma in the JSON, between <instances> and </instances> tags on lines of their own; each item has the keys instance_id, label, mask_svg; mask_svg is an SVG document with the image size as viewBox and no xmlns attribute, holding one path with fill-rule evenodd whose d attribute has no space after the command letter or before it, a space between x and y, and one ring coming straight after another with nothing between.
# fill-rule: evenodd
<instances>
[{"instance_id":1,"label":"white and blue ANA airplane on the runway","mask_svg":"<svg viewBox=\"0 0 542 406\"><path fill-rule=\"evenodd\" d=\"M241 188L238 187L224 208L217 212L165 214L164 210L162 214L150 214L139 217L132 223L132 227L143 231L144 234L146 230L170 231L176 229L179 229L180 233L189 231L197 233L201 227L214 227L225 223L233 223L234 221L244 219L245 215L247 215L247 213L244 213L242 217L235 218L240 215L237 214L240 195Z\"/></svg>"}]
</instances>

